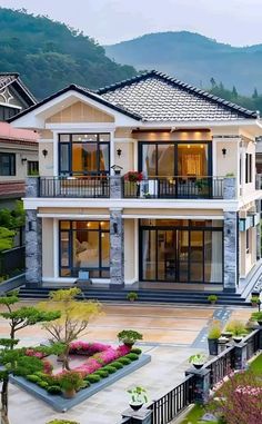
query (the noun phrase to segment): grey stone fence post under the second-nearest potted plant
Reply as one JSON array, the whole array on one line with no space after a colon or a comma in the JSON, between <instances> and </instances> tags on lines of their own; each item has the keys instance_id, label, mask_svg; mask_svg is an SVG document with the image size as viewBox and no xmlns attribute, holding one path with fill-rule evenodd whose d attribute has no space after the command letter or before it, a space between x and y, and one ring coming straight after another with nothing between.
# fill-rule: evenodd
<instances>
[{"instance_id":1,"label":"grey stone fence post under the second-nearest potted plant","mask_svg":"<svg viewBox=\"0 0 262 424\"><path fill-rule=\"evenodd\" d=\"M205 404L209 401L210 393L210 369L209 368L190 368L185 371L185 375L193 375L194 379L194 398L193 402Z\"/></svg>"}]
</instances>

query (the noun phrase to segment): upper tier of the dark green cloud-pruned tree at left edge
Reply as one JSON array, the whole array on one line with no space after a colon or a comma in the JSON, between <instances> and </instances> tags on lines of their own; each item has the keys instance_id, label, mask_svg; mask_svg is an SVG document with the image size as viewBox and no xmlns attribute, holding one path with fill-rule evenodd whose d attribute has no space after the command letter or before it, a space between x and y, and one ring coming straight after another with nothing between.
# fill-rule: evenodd
<instances>
[{"instance_id":1,"label":"upper tier of the dark green cloud-pruned tree at left edge","mask_svg":"<svg viewBox=\"0 0 262 424\"><path fill-rule=\"evenodd\" d=\"M59 310L39 310L34 306L22 306L13 309L13 305L18 302L18 290L10 292L6 296L0 297L0 305L4 305L8 309L8 312L0 313L0 316L9 321L10 338L12 341L14 341L16 333L19 329L38 323L49 323L61 316ZM13 345L10 344L10 348L12 347Z\"/></svg>"}]
</instances>

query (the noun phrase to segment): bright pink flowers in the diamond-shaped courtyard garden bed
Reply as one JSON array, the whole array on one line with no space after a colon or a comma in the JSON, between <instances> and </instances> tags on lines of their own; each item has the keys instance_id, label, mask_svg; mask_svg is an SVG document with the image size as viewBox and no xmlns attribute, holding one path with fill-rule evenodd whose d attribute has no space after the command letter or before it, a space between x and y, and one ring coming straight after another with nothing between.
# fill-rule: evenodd
<instances>
[{"instance_id":1,"label":"bright pink flowers in the diamond-shaped courtyard garden bed","mask_svg":"<svg viewBox=\"0 0 262 424\"><path fill-rule=\"evenodd\" d=\"M104 365L117 361L119 357L122 357L130 353L130 347L121 345L118 347L112 347L110 345L103 345L102 343L85 343L85 342L73 342L70 345L70 352L77 353L77 351L85 351L87 356L90 356L90 352L93 352L92 356L73 368L73 371L79 372L82 377L85 377L89 374L94 373ZM58 373L57 375L60 375Z\"/></svg>"}]
</instances>

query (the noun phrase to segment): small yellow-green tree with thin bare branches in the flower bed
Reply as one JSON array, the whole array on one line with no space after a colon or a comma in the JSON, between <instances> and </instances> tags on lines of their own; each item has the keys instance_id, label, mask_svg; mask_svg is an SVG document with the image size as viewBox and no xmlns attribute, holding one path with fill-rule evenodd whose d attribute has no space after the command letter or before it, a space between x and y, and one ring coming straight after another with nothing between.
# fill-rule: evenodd
<instances>
[{"instance_id":1,"label":"small yellow-green tree with thin bare branches in the flower bed","mask_svg":"<svg viewBox=\"0 0 262 424\"><path fill-rule=\"evenodd\" d=\"M46 322L43 328L49 332L54 342L64 345L62 361L63 368L68 371L70 371L70 343L87 333L89 321L101 312L101 305L98 302L75 299L80 293L80 288L77 287L51 292L49 300L38 305L39 310L53 312L59 309L61 312L59 319L51 323Z\"/></svg>"}]
</instances>

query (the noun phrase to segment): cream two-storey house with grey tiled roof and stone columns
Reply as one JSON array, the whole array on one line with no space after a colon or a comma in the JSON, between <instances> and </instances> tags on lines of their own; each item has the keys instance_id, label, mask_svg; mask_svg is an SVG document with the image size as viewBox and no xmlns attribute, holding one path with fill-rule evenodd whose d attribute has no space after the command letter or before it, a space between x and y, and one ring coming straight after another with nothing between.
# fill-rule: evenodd
<instances>
[{"instance_id":1,"label":"cream two-storey house with grey tiled roof and stone columns","mask_svg":"<svg viewBox=\"0 0 262 424\"><path fill-rule=\"evenodd\" d=\"M235 292L258 265L255 112L151 71L97 92L72 85L11 121L40 135L28 285L85 270L115 288Z\"/></svg>"}]
</instances>

